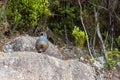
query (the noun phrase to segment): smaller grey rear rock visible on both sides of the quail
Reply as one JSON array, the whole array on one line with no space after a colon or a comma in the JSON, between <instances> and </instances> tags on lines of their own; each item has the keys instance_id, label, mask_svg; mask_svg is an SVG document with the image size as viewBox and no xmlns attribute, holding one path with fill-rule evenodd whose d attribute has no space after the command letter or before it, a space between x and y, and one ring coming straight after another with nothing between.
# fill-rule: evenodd
<instances>
[{"instance_id":1,"label":"smaller grey rear rock visible on both sides of the quail","mask_svg":"<svg viewBox=\"0 0 120 80\"><path fill-rule=\"evenodd\" d=\"M38 37L30 37L30 36L16 37L12 41L5 43L5 45L3 46L3 51L6 53L13 53L17 51L37 52L37 50L35 49L35 42L37 38ZM43 53L62 59L62 54L60 54L58 48L55 45L53 45L51 42L49 42L49 47L46 50L46 52Z\"/></svg>"}]
</instances>

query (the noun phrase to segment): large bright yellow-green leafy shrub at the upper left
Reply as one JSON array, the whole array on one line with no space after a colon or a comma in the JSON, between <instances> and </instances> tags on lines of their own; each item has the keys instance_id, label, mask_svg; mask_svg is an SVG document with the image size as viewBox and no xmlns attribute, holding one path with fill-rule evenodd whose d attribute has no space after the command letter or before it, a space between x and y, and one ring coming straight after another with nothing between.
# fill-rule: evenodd
<instances>
[{"instance_id":1,"label":"large bright yellow-green leafy shrub at the upper left","mask_svg":"<svg viewBox=\"0 0 120 80\"><path fill-rule=\"evenodd\" d=\"M50 14L48 0L8 0L7 18L13 28L30 28Z\"/></svg>"}]
</instances>

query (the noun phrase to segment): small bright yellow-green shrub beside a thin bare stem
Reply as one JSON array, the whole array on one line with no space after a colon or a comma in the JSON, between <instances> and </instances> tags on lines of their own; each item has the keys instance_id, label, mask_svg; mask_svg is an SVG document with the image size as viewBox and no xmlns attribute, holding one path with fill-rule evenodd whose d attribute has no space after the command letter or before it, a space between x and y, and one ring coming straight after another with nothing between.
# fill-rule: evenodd
<instances>
[{"instance_id":1,"label":"small bright yellow-green shrub beside a thin bare stem","mask_svg":"<svg viewBox=\"0 0 120 80\"><path fill-rule=\"evenodd\" d=\"M75 26L72 32L72 35L75 37L77 43L78 43L78 47L83 47L86 39L88 38L84 31L81 31L79 29L79 27Z\"/></svg>"}]
</instances>

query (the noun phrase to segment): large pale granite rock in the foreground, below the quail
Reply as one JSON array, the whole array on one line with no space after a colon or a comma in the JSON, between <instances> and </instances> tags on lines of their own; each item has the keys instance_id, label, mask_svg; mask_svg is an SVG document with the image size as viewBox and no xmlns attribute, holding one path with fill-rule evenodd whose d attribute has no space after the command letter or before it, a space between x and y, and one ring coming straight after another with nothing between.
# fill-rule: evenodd
<instances>
[{"instance_id":1,"label":"large pale granite rock in the foreground, below the quail","mask_svg":"<svg viewBox=\"0 0 120 80\"><path fill-rule=\"evenodd\" d=\"M77 60L37 52L0 54L0 80L95 80L95 71Z\"/></svg>"}]
</instances>

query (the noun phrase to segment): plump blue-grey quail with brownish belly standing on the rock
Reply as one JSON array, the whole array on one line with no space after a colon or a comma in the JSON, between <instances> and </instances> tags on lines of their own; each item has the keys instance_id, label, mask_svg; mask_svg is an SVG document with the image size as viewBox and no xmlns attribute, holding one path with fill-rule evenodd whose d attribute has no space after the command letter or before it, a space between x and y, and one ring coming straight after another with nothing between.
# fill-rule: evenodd
<instances>
[{"instance_id":1,"label":"plump blue-grey quail with brownish belly standing on the rock","mask_svg":"<svg viewBox=\"0 0 120 80\"><path fill-rule=\"evenodd\" d=\"M47 39L47 34L45 32L40 33L40 37L37 39L35 43L35 48L38 53L45 52L49 46L49 42Z\"/></svg>"}]
</instances>

